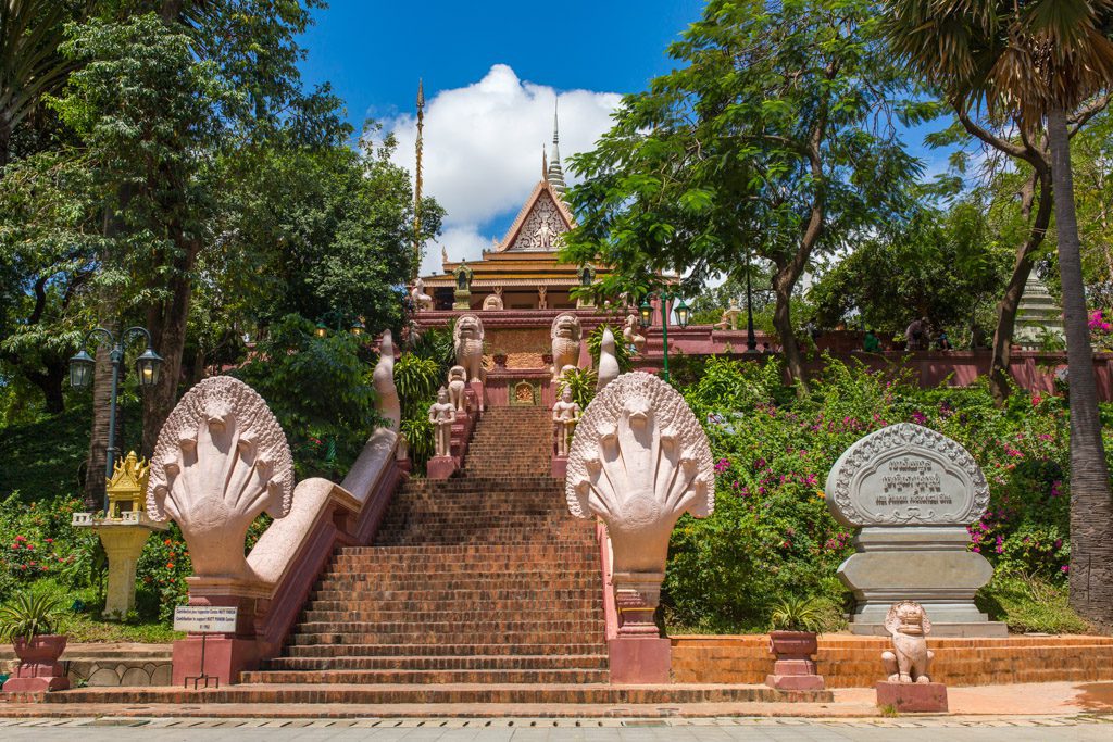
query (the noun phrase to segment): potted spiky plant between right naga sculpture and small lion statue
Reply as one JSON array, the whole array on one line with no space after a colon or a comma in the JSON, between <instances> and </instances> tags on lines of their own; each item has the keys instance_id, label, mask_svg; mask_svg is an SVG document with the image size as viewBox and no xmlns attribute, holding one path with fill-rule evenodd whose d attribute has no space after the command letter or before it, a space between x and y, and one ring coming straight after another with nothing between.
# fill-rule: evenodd
<instances>
[{"instance_id":1,"label":"potted spiky plant between right naga sculpture and small lion statue","mask_svg":"<svg viewBox=\"0 0 1113 742\"><path fill-rule=\"evenodd\" d=\"M777 659L766 684L786 691L818 691L824 679L811 659L819 645L816 634L823 626L823 601L814 597L781 597L769 615L769 651Z\"/></svg>"}]
</instances>

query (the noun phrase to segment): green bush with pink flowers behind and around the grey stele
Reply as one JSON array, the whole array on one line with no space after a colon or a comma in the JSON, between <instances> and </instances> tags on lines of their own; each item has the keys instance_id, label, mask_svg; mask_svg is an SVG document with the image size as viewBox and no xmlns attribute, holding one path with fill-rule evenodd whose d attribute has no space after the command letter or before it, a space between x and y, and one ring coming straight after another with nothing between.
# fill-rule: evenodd
<instances>
[{"instance_id":1,"label":"green bush with pink flowers behind and around the grey stele","mask_svg":"<svg viewBox=\"0 0 1113 742\"><path fill-rule=\"evenodd\" d=\"M985 472L991 506L969 525L973 550L998 572L1065 583L1068 452L1058 397L1018 392L997 409L981 386L922 389L899 370L830 358L805 396L782 384L775 363L721 358L708 360L684 396L711 442L717 498L711 517L686 516L673 533L662 602L674 624L762 630L784 594L848 605L836 572L854 552L851 533L829 514L823 487L854 442L899 422L956 439Z\"/></svg>"}]
</instances>

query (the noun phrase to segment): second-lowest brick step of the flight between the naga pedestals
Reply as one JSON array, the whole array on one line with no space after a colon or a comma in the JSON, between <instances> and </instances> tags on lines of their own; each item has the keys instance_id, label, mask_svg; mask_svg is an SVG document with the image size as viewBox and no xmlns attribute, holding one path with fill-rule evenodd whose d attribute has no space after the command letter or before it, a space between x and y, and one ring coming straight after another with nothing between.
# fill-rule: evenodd
<instances>
[{"instance_id":1,"label":"second-lowest brick step of the flight between the naga pedestals","mask_svg":"<svg viewBox=\"0 0 1113 742\"><path fill-rule=\"evenodd\" d=\"M475 654L387 656L292 656L263 670L607 670L605 654Z\"/></svg>"}]
</instances>

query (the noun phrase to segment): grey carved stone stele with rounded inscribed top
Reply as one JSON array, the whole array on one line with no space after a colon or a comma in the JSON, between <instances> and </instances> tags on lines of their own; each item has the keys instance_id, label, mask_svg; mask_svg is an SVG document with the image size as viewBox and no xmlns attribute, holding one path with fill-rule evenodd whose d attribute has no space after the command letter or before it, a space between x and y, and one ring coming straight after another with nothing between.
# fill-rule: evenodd
<instances>
[{"instance_id":1,"label":"grey carved stone stele with rounded inscribed top","mask_svg":"<svg viewBox=\"0 0 1113 742\"><path fill-rule=\"evenodd\" d=\"M912 600L930 611L937 636L1005 636L974 593L993 577L967 550L966 526L989 504L989 486L958 443L919 425L890 425L839 456L827 477L827 506L859 528L857 553L838 568L857 605L855 634L888 635L889 607Z\"/></svg>"}]
</instances>

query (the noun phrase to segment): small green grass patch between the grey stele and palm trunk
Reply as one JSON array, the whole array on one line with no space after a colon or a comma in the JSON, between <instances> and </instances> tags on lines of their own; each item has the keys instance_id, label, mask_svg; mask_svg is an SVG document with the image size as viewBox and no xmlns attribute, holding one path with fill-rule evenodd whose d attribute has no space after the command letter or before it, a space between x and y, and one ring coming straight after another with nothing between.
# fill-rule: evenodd
<instances>
[{"instance_id":1,"label":"small green grass patch between the grey stele and palm trunk","mask_svg":"<svg viewBox=\"0 0 1113 742\"><path fill-rule=\"evenodd\" d=\"M1067 588L1041 577L996 574L978 591L978 609L1016 633L1087 634L1094 631L1067 604Z\"/></svg>"}]
</instances>

